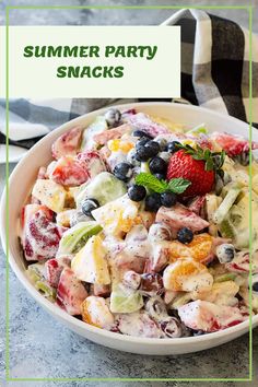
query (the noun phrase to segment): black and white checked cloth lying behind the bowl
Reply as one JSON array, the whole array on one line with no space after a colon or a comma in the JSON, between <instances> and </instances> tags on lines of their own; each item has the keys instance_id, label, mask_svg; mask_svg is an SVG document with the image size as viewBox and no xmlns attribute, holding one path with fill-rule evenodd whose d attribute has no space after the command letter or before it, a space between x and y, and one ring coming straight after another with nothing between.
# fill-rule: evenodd
<instances>
[{"instance_id":1,"label":"black and white checked cloth lying behind the bowl","mask_svg":"<svg viewBox=\"0 0 258 387\"><path fill-rule=\"evenodd\" d=\"M248 122L249 32L230 20L200 10L180 10L163 25L181 27L181 99L174 102L200 105ZM253 34L251 40L253 125L258 128L258 36ZM30 148L48 131L82 114L137 101L143 99L11 99L10 139L14 144L16 141L17 145ZM5 102L0 99L2 144L4 109Z\"/></svg>"}]
</instances>

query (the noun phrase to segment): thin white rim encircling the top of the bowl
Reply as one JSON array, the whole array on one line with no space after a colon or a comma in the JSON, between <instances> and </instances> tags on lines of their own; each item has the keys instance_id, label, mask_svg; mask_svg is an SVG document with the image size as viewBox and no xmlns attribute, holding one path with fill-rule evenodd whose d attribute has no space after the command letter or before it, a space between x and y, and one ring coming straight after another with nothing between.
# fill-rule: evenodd
<instances>
[{"instance_id":1,"label":"thin white rim encircling the top of the bowl","mask_svg":"<svg viewBox=\"0 0 258 387\"><path fill-rule=\"evenodd\" d=\"M247 129L249 128L249 125L246 122L243 122L238 120L235 117L232 116L225 116L221 113L210 110L208 108L203 108L200 106L192 106L192 105L187 105L187 104L177 104L177 103L169 103L169 102L144 102L144 103L127 103L127 104L119 104L116 105L115 107L120 108L120 109L129 109L129 108L140 108L142 107L154 107L154 106L176 106L176 108L179 109L191 109L191 110L199 110L200 113L203 112L208 115L212 115L218 117L219 119L224 119L224 120L231 120L232 124L237 122L238 125L241 124L243 127L245 126ZM107 107L99 108L97 110L93 110L91 113L87 113L85 115L79 116L70 121L67 121L56 128L54 131L49 132L46 134L42 140L39 140L26 154L25 156L17 163L17 165L14 167L12 174L9 177L9 186L12 184L13 180L15 180L16 175L20 173L20 171L23 167L23 164L27 157L31 156L32 153L35 152L36 149L42 146L46 139L49 139L50 137L57 136L59 132L69 130L70 126L73 125L80 125L80 122L83 120L83 118L91 118L95 117L103 112L105 112ZM69 126L69 127L68 127ZM1 243L2 243L2 248L4 254L7 255L7 241L9 241L9 237L7 237L7 232L5 232L5 206L7 206L7 188L4 187L4 190L2 192L1 197L1 202L0 202L0 236L1 236ZM213 341L215 339L221 339L231 335L234 335L236 332L242 332L244 333L247 328L249 327L249 318L241 324L237 324L233 327L219 330L216 332L211 332L207 333L203 336L197 336L197 337L183 337L183 338L173 338L173 339L155 339L155 338L141 338L141 337L136 337L136 336L127 336L127 335L121 335L117 332L112 332L102 328L94 327L87 322L84 322L73 316L70 316L66 310L61 309L58 307L56 304L51 303L49 300L45 298L40 293L37 292L37 290L33 286L33 284L30 282L28 278L26 277L25 271L22 271L14 257L12 256L10 246L8 247L9 250L9 259L7 260L7 265L10 263L12 270L14 271L15 275L20 280L20 282L23 284L23 286L27 290L27 292L33 296L33 298L39 303L47 312L49 312L52 316L57 315L59 319L62 321L66 321L69 327L74 326L74 328L79 328L80 331L85 330L91 333L94 333L96 336L101 336L103 338L107 339L113 339L113 340L118 340L121 342L130 342L133 344L144 344L144 345L150 345L150 347L156 347L160 344L163 344L165 347L168 345L186 345L186 344L192 344L192 343L201 343L203 341ZM253 316L253 328L258 325L258 315ZM249 330L249 329L248 329Z\"/></svg>"}]
</instances>

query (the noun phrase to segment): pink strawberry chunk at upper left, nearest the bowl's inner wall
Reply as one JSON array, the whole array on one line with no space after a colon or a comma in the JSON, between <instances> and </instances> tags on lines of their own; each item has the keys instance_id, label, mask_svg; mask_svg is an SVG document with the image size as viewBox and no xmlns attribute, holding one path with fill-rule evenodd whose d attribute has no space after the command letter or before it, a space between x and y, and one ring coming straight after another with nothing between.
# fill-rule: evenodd
<instances>
[{"instance_id":1,"label":"pink strawberry chunk at upper left, nearest the bowl's inner wall","mask_svg":"<svg viewBox=\"0 0 258 387\"><path fill-rule=\"evenodd\" d=\"M73 128L60 136L52 144L52 157L74 156L82 142L82 129Z\"/></svg>"}]
</instances>

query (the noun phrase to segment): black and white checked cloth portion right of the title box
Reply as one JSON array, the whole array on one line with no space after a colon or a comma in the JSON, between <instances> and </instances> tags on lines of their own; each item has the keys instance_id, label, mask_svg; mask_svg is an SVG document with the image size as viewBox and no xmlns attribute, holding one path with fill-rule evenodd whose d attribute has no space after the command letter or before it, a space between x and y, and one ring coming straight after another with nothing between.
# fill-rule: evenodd
<instances>
[{"instance_id":1,"label":"black and white checked cloth portion right of the title box","mask_svg":"<svg viewBox=\"0 0 258 387\"><path fill-rule=\"evenodd\" d=\"M249 32L200 10L183 10L165 25L181 27L181 96L249 121ZM253 122L258 124L258 36L251 35Z\"/></svg>"}]
</instances>

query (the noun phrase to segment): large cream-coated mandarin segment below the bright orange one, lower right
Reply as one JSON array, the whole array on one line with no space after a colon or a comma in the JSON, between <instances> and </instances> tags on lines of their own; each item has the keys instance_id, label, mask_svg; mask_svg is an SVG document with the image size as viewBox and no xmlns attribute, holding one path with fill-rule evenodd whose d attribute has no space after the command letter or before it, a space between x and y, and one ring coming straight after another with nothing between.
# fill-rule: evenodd
<instances>
[{"instance_id":1,"label":"large cream-coated mandarin segment below the bright orange one, lower right","mask_svg":"<svg viewBox=\"0 0 258 387\"><path fill-rule=\"evenodd\" d=\"M166 290L188 292L200 283L209 288L213 280L207 267L192 258L178 259L168 265L163 273Z\"/></svg>"}]
</instances>

